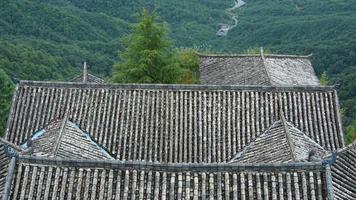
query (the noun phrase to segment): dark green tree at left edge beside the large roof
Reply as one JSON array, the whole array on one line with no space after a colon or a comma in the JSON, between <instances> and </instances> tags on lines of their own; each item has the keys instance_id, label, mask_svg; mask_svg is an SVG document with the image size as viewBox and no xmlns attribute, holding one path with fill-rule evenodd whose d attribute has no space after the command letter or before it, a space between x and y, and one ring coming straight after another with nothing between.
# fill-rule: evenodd
<instances>
[{"instance_id":1,"label":"dark green tree at left edge beside the large roof","mask_svg":"<svg viewBox=\"0 0 356 200\"><path fill-rule=\"evenodd\" d=\"M13 89L14 86L12 81L6 75L4 70L0 69L0 136L5 133Z\"/></svg>"}]
</instances>

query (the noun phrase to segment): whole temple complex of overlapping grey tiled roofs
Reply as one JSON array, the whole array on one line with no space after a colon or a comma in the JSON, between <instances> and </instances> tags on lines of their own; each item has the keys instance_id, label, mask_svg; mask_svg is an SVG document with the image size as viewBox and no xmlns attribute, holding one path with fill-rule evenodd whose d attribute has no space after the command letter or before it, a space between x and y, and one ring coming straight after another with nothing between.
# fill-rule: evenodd
<instances>
[{"instance_id":1,"label":"whole temple complex of overlapping grey tiled roofs","mask_svg":"<svg viewBox=\"0 0 356 200\"><path fill-rule=\"evenodd\" d=\"M201 85L21 81L0 196L356 199L356 143L309 56L199 59Z\"/></svg>"}]
</instances>

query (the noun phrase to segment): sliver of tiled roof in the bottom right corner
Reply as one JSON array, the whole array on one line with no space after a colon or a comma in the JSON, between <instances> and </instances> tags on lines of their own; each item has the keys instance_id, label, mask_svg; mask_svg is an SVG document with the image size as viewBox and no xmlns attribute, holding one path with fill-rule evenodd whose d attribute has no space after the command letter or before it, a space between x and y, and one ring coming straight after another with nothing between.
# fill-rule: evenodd
<instances>
[{"instance_id":1,"label":"sliver of tiled roof in the bottom right corner","mask_svg":"<svg viewBox=\"0 0 356 200\"><path fill-rule=\"evenodd\" d=\"M335 199L356 199L356 143L337 152L331 172Z\"/></svg>"}]
</instances>

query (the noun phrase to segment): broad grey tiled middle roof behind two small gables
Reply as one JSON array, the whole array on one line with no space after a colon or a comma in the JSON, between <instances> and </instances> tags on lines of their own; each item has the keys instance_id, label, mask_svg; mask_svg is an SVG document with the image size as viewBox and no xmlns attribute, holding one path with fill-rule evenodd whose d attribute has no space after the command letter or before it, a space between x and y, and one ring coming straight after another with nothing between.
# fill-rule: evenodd
<instances>
[{"instance_id":1,"label":"broad grey tiled middle roof behind two small gables","mask_svg":"<svg viewBox=\"0 0 356 200\"><path fill-rule=\"evenodd\" d=\"M119 160L226 162L285 113L326 150L344 146L332 87L21 82L6 139L69 119Z\"/></svg>"}]
</instances>

